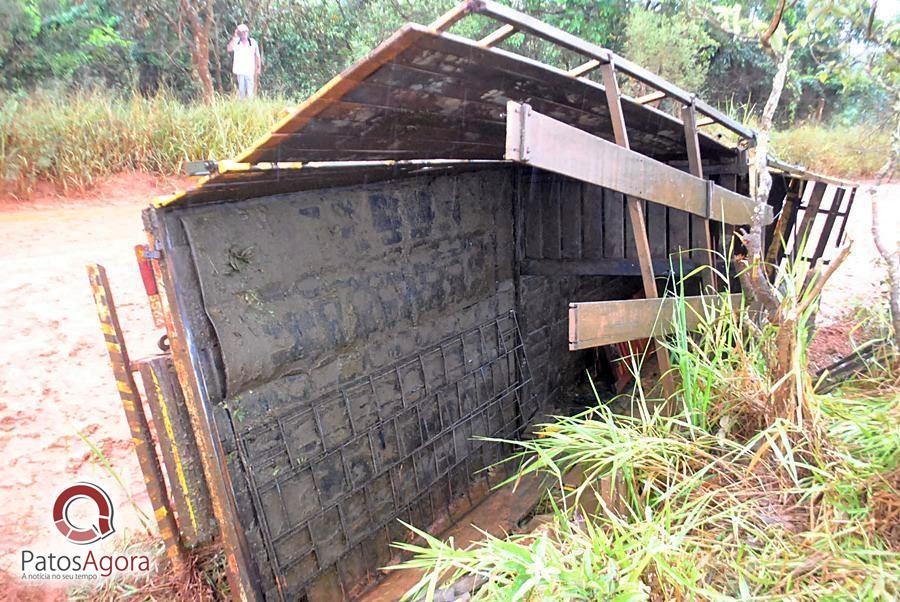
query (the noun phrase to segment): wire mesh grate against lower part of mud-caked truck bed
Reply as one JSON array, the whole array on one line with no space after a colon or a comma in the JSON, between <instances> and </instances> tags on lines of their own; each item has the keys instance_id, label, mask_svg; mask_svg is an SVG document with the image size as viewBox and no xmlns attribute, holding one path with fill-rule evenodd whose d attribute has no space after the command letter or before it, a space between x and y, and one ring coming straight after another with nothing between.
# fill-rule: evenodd
<instances>
[{"instance_id":1,"label":"wire mesh grate against lower part of mud-caked truck bed","mask_svg":"<svg viewBox=\"0 0 900 602\"><path fill-rule=\"evenodd\" d=\"M510 311L302 409L234 425L278 595L303 595L335 567L358 580L359 567L340 566L348 554L386 545L389 525L417 508L426 521L450 515L503 453L473 437L515 437L536 411L523 392L530 381Z\"/></svg>"}]
</instances>

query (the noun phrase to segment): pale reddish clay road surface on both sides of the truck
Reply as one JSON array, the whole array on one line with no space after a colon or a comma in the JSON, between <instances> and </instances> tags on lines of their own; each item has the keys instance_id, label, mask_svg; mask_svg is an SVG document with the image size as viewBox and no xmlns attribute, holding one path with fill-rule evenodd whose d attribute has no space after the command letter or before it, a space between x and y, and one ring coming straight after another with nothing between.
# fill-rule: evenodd
<instances>
[{"instance_id":1,"label":"pale reddish clay road surface on both sides of the truck","mask_svg":"<svg viewBox=\"0 0 900 602\"><path fill-rule=\"evenodd\" d=\"M0 199L0 571L13 575L0 573L0 598L62 595L51 586L19 589L14 576L20 550L58 545L51 506L63 488L91 481L106 489L115 504L110 539L118 545L143 529L132 501L151 515L84 266L106 266L131 356L155 353L161 332L151 322L133 246L145 242L140 212L150 197L184 183L127 174L90 194ZM900 186L881 193L882 214L893 223L886 232L900 230L900 203L890 203L898 193ZM846 308L879 294L884 269L875 266L869 203L861 191L850 224L856 247L823 299L817 363L849 351Z\"/></svg>"}]
</instances>

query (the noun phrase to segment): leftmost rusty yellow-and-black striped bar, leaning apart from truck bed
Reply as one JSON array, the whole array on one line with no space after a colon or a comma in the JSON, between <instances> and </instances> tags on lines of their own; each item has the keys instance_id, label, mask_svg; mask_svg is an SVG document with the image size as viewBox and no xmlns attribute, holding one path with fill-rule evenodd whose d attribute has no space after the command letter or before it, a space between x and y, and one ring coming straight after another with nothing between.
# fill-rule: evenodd
<instances>
[{"instance_id":1,"label":"leftmost rusty yellow-and-black striped bar, leaning apart from truck bed","mask_svg":"<svg viewBox=\"0 0 900 602\"><path fill-rule=\"evenodd\" d=\"M184 548L178 533L178 525L175 524L175 515L169 505L169 496L166 491L165 479L153 436L150 432L150 424L144 412L144 406L134 382L131 362L128 359L128 349L125 347L125 338L122 335L122 327L119 324L119 316L116 312L115 301L106 276L106 269L99 264L92 263L87 266L88 279L91 283L91 292L94 296L94 304L97 307L97 316L100 319L100 330L106 340L106 351L116 378L116 389L125 409L125 417L128 419L128 428L131 430L131 442L134 445L141 472L144 473L144 485L153 506L153 516L156 519L159 534L162 536L166 548L166 557L180 572L186 566Z\"/></svg>"}]
</instances>

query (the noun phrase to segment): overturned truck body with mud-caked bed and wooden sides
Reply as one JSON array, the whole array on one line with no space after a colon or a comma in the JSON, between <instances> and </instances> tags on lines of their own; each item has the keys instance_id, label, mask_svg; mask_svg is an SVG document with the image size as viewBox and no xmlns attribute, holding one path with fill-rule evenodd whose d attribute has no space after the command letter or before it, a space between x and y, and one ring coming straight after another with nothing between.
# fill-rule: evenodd
<instances>
[{"instance_id":1,"label":"overturned truck body with mud-caked bed and wooden sides","mask_svg":"<svg viewBox=\"0 0 900 602\"><path fill-rule=\"evenodd\" d=\"M499 29L447 32L472 13ZM497 47L516 32L584 63ZM620 93L617 74L652 94ZM752 143L491 2L402 28L145 212L171 359L142 374L169 408L152 414L180 537L224 546L236 597L358 594L407 536L397 519L452 521L500 478L484 469L507 450L480 438L521 436L598 345L653 334L627 307L604 331L594 302L656 297L716 261L753 211ZM773 172L770 259L819 223L809 258L827 260L855 189Z\"/></svg>"}]
</instances>

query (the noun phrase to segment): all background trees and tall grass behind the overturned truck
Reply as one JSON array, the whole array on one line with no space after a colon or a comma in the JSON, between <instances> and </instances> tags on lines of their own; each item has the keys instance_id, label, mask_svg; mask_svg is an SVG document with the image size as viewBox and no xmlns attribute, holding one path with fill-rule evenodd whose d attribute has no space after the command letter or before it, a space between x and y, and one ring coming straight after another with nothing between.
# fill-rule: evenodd
<instances>
[{"instance_id":1,"label":"all background trees and tall grass behind the overturned truck","mask_svg":"<svg viewBox=\"0 0 900 602\"><path fill-rule=\"evenodd\" d=\"M398 27L430 23L453 4L0 0L0 189L22 194L47 181L66 192L118 171L171 174L184 160L231 158ZM514 4L732 114L736 105L759 108L775 73L767 53L780 34L758 43L771 0ZM865 179L889 147L898 30L868 0L839 4L781 3L791 28L817 26L791 60L774 148L789 162ZM744 9L759 18L746 21ZM264 55L262 98L247 104L232 100L225 51L241 22ZM479 39L493 27L474 17L452 32ZM561 69L583 62L535 36L515 34L501 47ZM625 91L650 90L627 83ZM735 116L752 121L754 112Z\"/></svg>"}]
</instances>

